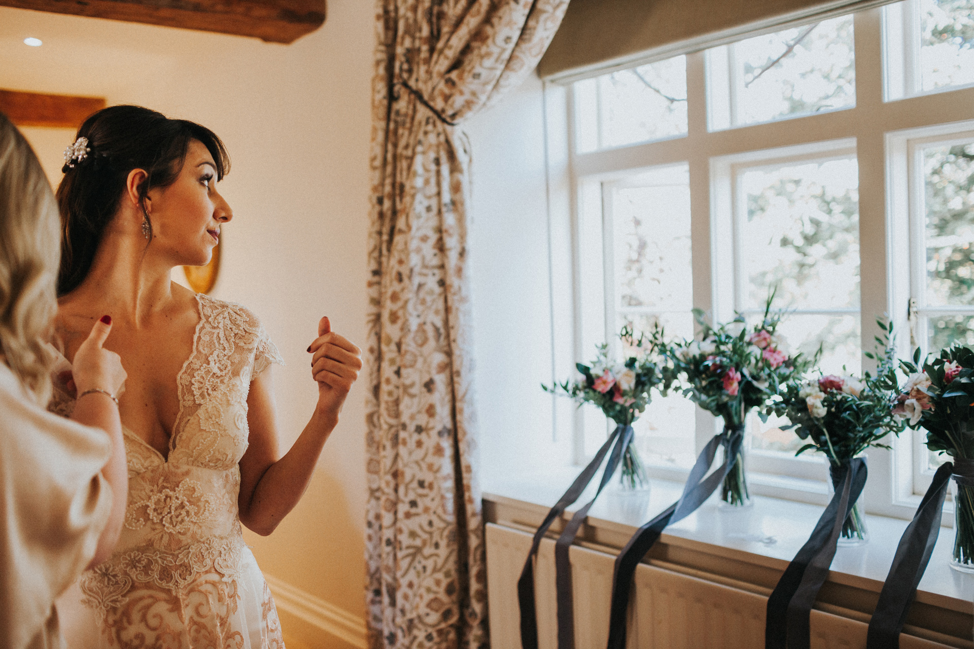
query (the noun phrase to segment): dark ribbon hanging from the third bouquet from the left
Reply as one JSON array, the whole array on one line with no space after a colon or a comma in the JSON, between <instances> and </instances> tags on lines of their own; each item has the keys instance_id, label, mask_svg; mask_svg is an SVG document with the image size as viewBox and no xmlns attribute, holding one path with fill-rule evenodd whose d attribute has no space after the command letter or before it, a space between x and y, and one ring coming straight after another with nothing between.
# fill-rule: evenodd
<instances>
[{"instance_id":1,"label":"dark ribbon hanging from the third bouquet from the left","mask_svg":"<svg viewBox=\"0 0 974 649\"><path fill-rule=\"evenodd\" d=\"M822 513L811 536L795 555L768 596L765 649L808 649L809 619L815 597L829 576L843 523L866 486L866 460L853 457L844 465L843 487Z\"/></svg>"}]
</instances>

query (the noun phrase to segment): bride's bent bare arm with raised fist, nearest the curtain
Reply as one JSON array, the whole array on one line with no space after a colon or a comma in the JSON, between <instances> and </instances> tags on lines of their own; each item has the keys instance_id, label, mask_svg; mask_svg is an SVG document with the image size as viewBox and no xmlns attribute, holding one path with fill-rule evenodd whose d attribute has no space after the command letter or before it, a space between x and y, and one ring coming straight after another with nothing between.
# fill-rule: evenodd
<instances>
[{"instance_id":1,"label":"bride's bent bare arm with raised fist, nearest the curtain","mask_svg":"<svg viewBox=\"0 0 974 649\"><path fill-rule=\"evenodd\" d=\"M338 423L338 415L361 369L361 351L330 332L327 318L318 325L309 350L312 375L318 381L318 404L294 446L280 457L270 370L250 383L247 395L249 446L241 458L238 503L241 523L266 536L281 523L311 482L318 455ZM279 458L280 457L280 458Z\"/></svg>"}]
</instances>

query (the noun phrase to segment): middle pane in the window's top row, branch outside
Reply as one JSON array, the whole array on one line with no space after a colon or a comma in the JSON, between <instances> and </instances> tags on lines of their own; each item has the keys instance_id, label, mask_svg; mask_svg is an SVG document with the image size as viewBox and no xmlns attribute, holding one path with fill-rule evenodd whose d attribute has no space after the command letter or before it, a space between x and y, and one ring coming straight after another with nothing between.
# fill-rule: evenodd
<instances>
[{"instance_id":1,"label":"middle pane in the window's top row, branch outside","mask_svg":"<svg viewBox=\"0 0 974 649\"><path fill-rule=\"evenodd\" d=\"M734 126L855 105L851 16L749 38L729 47Z\"/></svg>"}]
</instances>

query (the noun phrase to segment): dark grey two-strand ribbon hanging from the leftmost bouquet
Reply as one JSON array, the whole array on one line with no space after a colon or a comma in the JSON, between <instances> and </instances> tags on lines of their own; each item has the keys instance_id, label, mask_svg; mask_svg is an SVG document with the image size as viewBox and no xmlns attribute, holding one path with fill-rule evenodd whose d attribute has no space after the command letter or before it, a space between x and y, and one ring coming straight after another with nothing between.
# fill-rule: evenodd
<instances>
[{"instance_id":1,"label":"dark grey two-strand ribbon hanging from the leftmost bouquet","mask_svg":"<svg viewBox=\"0 0 974 649\"><path fill-rule=\"evenodd\" d=\"M541 545L544 533L547 531L551 523L554 523L565 511L565 508L574 503L581 496L581 492L588 487L588 483L592 481L595 476L596 471L598 471L599 466L602 464L602 460L605 459L606 454L609 449L615 445L609 456L609 461L606 463L605 470L602 472L602 481L599 483L599 488L595 492L595 497L588 502L579 512L572 517L572 521L565 526L564 531L562 531L561 536L558 537L558 542L555 545L555 582L558 587L558 621L559 621L559 646L560 638L562 635L562 619L564 617L572 616L572 577L571 577L571 565L568 563L568 546L572 544L575 539L575 535L579 531L581 522L584 520L585 515L588 513L588 509L595 502L595 498L599 496L602 489L609 483L613 474L616 472L618 463L622 458L622 452L632 441L633 430L632 426L623 426L619 424L616 430L612 432L606 443L602 445L602 448L595 453L595 457L591 462L588 463L584 469L582 469L579 477L575 479L571 487L558 499L555 506L547 513L544 517L544 521L538 527L538 531L535 532L534 540L531 544L531 552L528 553L528 559L524 562L524 568L521 570L521 576L517 580L517 601L520 606L521 611L521 647L522 649L538 649L538 617L535 608L535 567L534 559L538 556L538 548ZM578 522L578 523L576 523ZM564 547L564 564L559 561L559 548ZM567 590L563 590L563 587ZM567 595L566 595L567 594ZM566 599L567 598L567 599ZM567 600L567 607L563 604L563 599ZM567 623L566 623L567 624ZM569 626L569 629L572 627ZM574 636L571 641L574 645Z\"/></svg>"}]
</instances>

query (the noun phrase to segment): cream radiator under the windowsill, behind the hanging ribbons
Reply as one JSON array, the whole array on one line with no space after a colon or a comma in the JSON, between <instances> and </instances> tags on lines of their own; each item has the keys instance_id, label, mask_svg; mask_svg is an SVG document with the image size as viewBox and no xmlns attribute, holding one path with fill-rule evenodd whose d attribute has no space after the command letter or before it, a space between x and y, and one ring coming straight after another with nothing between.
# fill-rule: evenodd
<instances>
[{"instance_id":1,"label":"cream radiator under the windowsill, behind the hanging ribbons","mask_svg":"<svg viewBox=\"0 0 974 649\"><path fill-rule=\"evenodd\" d=\"M521 649L517 578L531 535L487 524L487 595L493 649ZM615 556L572 546L577 649L605 649ZM554 541L543 539L535 566L540 649L556 649ZM765 645L767 595L641 564L629 605L628 649L760 649ZM812 649L862 649L865 622L811 612ZM904 634L901 649L950 647Z\"/></svg>"}]
</instances>

